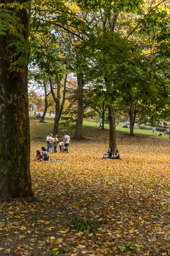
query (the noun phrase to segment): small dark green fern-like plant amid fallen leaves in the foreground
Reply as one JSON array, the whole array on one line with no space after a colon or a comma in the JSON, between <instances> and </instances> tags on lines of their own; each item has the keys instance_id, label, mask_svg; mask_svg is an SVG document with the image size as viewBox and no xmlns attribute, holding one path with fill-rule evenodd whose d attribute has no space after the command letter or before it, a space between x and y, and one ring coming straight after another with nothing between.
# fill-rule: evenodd
<instances>
[{"instance_id":1,"label":"small dark green fern-like plant amid fallen leaves in the foreground","mask_svg":"<svg viewBox=\"0 0 170 256\"><path fill-rule=\"evenodd\" d=\"M72 220L71 224L74 225L74 228L77 230L87 230L87 229L97 229L99 228L99 221L94 220L94 221L89 221L89 220L78 220L78 217L76 217L74 220Z\"/></svg>"}]
</instances>

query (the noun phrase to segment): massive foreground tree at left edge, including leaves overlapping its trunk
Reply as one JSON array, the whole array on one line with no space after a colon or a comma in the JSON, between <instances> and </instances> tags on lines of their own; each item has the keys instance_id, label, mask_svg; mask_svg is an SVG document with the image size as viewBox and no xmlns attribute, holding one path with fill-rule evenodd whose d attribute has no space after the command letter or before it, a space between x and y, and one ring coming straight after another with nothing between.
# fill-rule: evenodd
<instances>
[{"instance_id":1,"label":"massive foreground tree at left edge, including leaves overlapping its trunk","mask_svg":"<svg viewBox=\"0 0 170 256\"><path fill-rule=\"evenodd\" d=\"M27 92L31 5L21 0L9 8L9 3L1 1L0 8L0 30L4 29L0 33L1 201L33 196Z\"/></svg>"}]
</instances>

